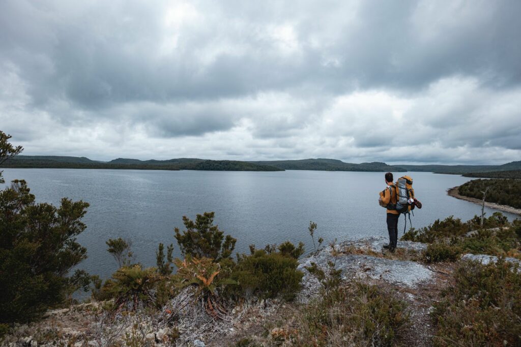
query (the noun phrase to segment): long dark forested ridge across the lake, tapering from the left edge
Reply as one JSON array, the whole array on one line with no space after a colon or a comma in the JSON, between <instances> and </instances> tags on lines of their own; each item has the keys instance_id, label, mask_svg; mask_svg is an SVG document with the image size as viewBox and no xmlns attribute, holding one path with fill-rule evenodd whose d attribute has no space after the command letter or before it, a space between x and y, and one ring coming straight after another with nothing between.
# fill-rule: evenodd
<instances>
[{"instance_id":1,"label":"long dark forested ridge across the lake, tapering from the left edge","mask_svg":"<svg viewBox=\"0 0 521 347\"><path fill-rule=\"evenodd\" d=\"M138 160L115 159L110 162L90 160L85 157L17 156L7 160L3 168L63 168L63 169L131 169L131 170L214 170L214 171L282 171L268 165L256 165L245 161L170 159Z\"/></svg>"}]
</instances>

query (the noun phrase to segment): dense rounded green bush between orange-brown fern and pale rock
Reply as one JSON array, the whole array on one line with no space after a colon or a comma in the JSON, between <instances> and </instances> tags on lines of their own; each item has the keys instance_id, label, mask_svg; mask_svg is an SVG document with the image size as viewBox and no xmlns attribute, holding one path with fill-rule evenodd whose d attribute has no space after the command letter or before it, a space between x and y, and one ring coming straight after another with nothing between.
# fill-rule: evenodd
<instances>
[{"instance_id":1,"label":"dense rounded green bush between orange-brown fern and pale rock","mask_svg":"<svg viewBox=\"0 0 521 347\"><path fill-rule=\"evenodd\" d=\"M238 282L234 294L241 297L256 294L262 298L281 295L283 299L292 300L304 276L296 269L299 263L294 255L297 253L256 250L251 255L240 255L231 273L231 278Z\"/></svg>"}]
</instances>

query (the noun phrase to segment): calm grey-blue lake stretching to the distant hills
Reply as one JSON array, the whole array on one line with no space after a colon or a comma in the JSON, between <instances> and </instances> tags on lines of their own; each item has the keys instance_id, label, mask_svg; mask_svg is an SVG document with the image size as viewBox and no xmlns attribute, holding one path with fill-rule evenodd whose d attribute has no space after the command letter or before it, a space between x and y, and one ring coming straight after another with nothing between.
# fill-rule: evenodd
<instances>
[{"instance_id":1,"label":"calm grey-blue lake stretching to the distant hills","mask_svg":"<svg viewBox=\"0 0 521 347\"><path fill-rule=\"evenodd\" d=\"M316 238L387 236L386 211L378 205L385 187L382 172L224 172L80 169L4 169L6 182L25 179L39 202L59 204L62 197L90 203L88 226L79 242L89 259L79 266L108 277L116 262L105 241L122 237L132 241L136 260L155 265L159 242L179 248L173 228L184 228L182 216L215 211L215 223L237 238L236 251L254 243L303 241L313 250L309 221L317 223ZM423 209L415 210L413 226L426 226L449 215L466 221L481 207L446 195L448 188L471 178L425 172L407 173L414 179ZM395 179L401 174L396 173ZM494 210L486 208L487 215ZM505 213L510 220L516 215ZM403 217L399 235L403 234ZM408 227L407 227L408 228Z\"/></svg>"}]
</instances>

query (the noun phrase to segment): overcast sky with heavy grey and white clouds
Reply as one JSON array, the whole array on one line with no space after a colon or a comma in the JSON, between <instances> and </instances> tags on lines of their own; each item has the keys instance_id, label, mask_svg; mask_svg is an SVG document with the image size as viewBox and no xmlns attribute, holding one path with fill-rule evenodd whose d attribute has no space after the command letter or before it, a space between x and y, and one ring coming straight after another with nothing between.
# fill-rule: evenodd
<instances>
[{"instance_id":1,"label":"overcast sky with heavy grey and white clouds","mask_svg":"<svg viewBox=\"0 0 521 347\"><path fill-rule=\"evenodd\" d=\"M521 160L521 1L0 1L26 155Z\"/></svg>"}]
</instances>

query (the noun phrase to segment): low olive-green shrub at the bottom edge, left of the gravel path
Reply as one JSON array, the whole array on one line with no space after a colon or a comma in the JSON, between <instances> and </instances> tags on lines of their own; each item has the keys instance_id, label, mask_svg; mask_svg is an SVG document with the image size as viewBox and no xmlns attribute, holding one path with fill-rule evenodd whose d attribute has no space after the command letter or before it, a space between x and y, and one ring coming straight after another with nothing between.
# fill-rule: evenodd
<instances>
[{"instance_id":1,"label":"low olive-green shrub at the bottom edge, left of the gravel path","mask_svg":"<svg viewBox=\"0 0 521 347\"><path fill-rule=\"evenodd\" d=\"M298 346L391 346L408 322L405 304L376 286L336 288L312 303L297 321Z\"/></svg>"}]
</instances>

